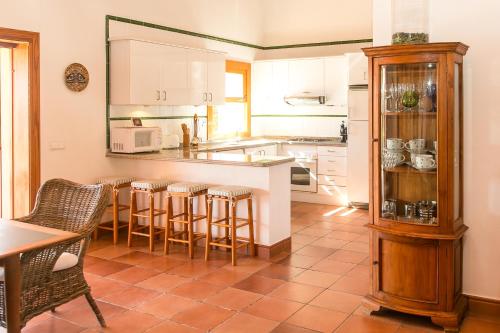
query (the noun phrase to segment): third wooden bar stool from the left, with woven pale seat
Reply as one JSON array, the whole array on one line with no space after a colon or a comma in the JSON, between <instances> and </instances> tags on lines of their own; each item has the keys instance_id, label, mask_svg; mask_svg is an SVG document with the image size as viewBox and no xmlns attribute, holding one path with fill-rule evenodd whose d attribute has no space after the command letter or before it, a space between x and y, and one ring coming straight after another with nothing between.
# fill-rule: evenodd
<instances>
[{"instance_id":1,"label":"third wooden bar stool from the left, with woven pale seat","mask_svg":"<svg viewBox=\"0 0 500 333\"><path fill-rule=\"evenodd\" d=\"M167 210L167 225L165 234L165 254L169 252L169 244L182 243L189 246L189 258L194 257L195 242L205 238L205 234L194 232L194 222L206 218L206 215L193 214L193 200L196 197L207 195L208 185L196 183L175 183L168 186L166 210ZM173 214L172 198L182 198L183 209L181 213ZM175 231L175 223L183 225L183 229Z\"/></svg>"}]
</instances>

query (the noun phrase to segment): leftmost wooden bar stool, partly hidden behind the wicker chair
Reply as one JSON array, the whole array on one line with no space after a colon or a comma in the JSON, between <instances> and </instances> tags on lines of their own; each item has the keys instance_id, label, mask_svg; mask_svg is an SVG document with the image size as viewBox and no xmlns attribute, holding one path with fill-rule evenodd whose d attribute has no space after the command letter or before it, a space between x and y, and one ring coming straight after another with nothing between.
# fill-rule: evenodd
<instances>
[{"instance_id":1,"label":"leftmost wooden bar stool, partly hidden behind the wicker chair","mask_svg":"<svg viewBox=\"0 0 500 333\"><path fill-rule=\"evenodd\" d=\"M113 232L113 245L118 243L118 233L120 229L128 227L128 221L120 221L120 212L130 209L129 205L120 204L120 190L130 188L130 183L135 177L101 177L97 179L97 184L111 185L113 188L112 202L108 207L113 207L113 219L101 222L94 231L94 239L99 237L99 230Z\"/></svg>"}]
</instances>

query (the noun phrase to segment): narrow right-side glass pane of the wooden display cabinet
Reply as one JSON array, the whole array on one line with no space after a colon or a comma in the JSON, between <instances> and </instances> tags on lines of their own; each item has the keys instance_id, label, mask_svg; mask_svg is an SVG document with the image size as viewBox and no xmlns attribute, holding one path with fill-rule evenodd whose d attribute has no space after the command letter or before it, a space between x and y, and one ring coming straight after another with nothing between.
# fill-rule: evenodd
<instances>
[{"instance_id":1,"label":"narrow right-side glass pane of the wooden display cabinet","mask_svg":"<svg viewBox=\"0 0 500 333\"><path fill-rule=\"evenodd\" d=\"M453 133L454 133L454 143L453 143L453 219L456 220L460 217L461 212L461 196L462 196L462 184L460 183L460 137L461 137L461 129L460 129L460 67L458 64L455 64L455 100L454 100L454 110L453 110Z\"/></svg>"}]
</instances>

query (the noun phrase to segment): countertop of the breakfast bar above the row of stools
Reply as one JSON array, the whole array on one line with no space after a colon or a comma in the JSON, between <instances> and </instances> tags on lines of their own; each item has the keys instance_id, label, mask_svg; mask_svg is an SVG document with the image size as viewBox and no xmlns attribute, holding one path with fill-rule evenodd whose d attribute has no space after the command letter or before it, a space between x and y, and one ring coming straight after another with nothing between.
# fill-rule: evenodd
<instances>
[{"instance_id":1,"label":"countertop of the breakfast bar above the row of stools","mask_svg":"<svg viewBox=\"0 0 500 333\"><path fill-rule=\"evenodd\" d=\"M172 162L190 162L206 164L224 164L252 167L270 167L293 162L289 156L252 156L244 154L224 154L215 152L200 152L190 149L166 149L153 153L119 154L107 152L106 157L136 160L156 160Z\"/></svg>"}]
</instances>

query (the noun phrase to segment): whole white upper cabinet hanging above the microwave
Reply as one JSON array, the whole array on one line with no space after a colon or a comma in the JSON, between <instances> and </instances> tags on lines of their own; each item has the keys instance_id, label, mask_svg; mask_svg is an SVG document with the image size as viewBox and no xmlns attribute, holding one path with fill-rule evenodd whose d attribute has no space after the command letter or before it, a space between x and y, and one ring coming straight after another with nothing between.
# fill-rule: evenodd
<instances>
[{"instance_id":1,"label":"whole white upper cabinet hanging above the microwave","mask_svg":"<svg viewBox=\"0 0 500 333\"><path fill-rule=\"evenodd\" d=\"M111 42L111 104L224 103L225 56L137 40Z\"/></svg>"}]
</instances>

